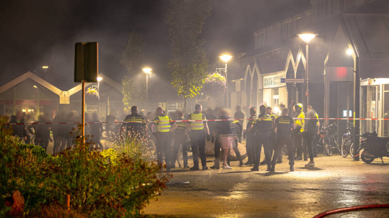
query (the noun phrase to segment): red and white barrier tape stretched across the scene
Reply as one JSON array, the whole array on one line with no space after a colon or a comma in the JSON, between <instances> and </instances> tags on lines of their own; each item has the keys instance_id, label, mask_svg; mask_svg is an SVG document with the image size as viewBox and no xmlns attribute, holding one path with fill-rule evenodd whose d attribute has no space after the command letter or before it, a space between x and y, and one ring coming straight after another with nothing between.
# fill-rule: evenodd
<instances>
[{"instance_id":1,"label":"red and white barrier tape stretched across the scene","mask_svg":"<svg viewBox=\"0 0 389 218\"><path fill-rule=\"evenodd\" d=\"M268 118L259 118L259 119L210 119L210 120L171 120L171 123L177 122L218 122L218 121L243 121L243 120L263 120ZM317 118L293 118L294 120L316 120ZM388 120L389 118L318 118L319 120ZM158 121L156 121L158 122ZM159 121L160 122L160 121ZM126 124L126 123L139 123L139 121L134 122L85 122L86 124ZM143 123L153 123L153 122L143 122ZM58 123L30 123L30 125L39 125L39 124L81 124L80 122L58 122ZM24 123L20 124L10 124L7 123L5 125L24 125Z\"/></svg>"}]
</instances>

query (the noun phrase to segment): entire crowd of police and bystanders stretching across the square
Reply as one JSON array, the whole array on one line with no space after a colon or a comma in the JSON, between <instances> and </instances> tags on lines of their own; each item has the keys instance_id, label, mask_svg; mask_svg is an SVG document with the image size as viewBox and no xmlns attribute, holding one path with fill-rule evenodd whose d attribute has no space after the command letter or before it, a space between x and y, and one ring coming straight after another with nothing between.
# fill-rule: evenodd
<instances>
[{"instance_id":1,"label":"entire crowd of police and bystanders stretching across the square","mask_svg":"<svg viewBox=\"0 0 389 218\"><path fill-rule=\"evenodd\" d=\"M195 105L195 111L192 113L177 110L169 113L169 116L161 107L154 113L147 112L145 116L145 111L139 111L137 106L133 106L122 124L117 124L116 117L107 116L105 130L97 113L91 115L86 113L85 135L91 140L90 149L94 149L94 146L100 150L104 148L101 143L103 131L117 133L122 140L135 137L148 141L150 146L155 144L158 162L162 164L164 160L167 171L176 167L180 150L184 168L200 170L201 163L201 169L207 170L206 140L214 143L215 160L211 169L220 169L220 160L221 168L231 169L229 154L233 151L240 166L253 165L251 170L259 171L260 165L266 165L267 171L274 171L276 164L282 162L282 150L285 147L290 171L294 171L295 160L302 160L303 153L305 160L308 155L310 158L305 166L315 166L314 157L317 156L317 149L314 141L318 133L318 114L311 106L308 107L307 113L304 113L300 103L292 106L293 111L285 108L283 104L278 108L281 114L275 114L271 107L261 105L257 115L257 109L251 107L248 109L248 119L245 119L240 106L236 107L233 117L228 109L215 108L203 111L200 104ZM208 121L215 119L222 121ZM26 143L34 143L47 150L49 141L53 141L53 154L57 154L74 146L76 137L80 135L77 131L80 120L80 115L75 111L59 112L53 120L50 114L45 113L39 115L35 121L31 114L18 111L11 116L9 123L12 125L13 135ZM243 131L244 121L246 129ZM238 149L242 137L246 139L248 156L246 163L243 162L243 156ZM303 139L306 139L306 146L303 146ZM262 148L265 158L261 162ZM192 167L188 165L189 151L193 154Z\"/></svg>"}]
</instances>

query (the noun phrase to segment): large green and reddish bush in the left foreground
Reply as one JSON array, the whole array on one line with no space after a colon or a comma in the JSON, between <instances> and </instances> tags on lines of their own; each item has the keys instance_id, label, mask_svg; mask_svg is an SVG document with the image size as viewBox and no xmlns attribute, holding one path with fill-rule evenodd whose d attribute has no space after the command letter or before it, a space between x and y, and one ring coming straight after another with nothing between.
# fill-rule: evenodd
<instances>
[{"instance_id":1,"label":"large green and reddish bush in the left foreground","mask_svg":"<svg viewBox=\"0 0 389 218\"><path fill-rule=\"evenodd\" d=\"M68 194L74 217L139 216L170 178L159 174L157 163L135 154L140 149L125 149L131 144L122 150L90 152L89 144L78 138L73 150L55 157L39 146L23 144L10 136L1 136L0 144L0 154L6 154L0 160L1 166L5 166L1 169L1 200L4 202L4 198L19 190L25 198L27 217L34 214L50 217L47 214L53 215L58 205L65 205ZM6 208L1 205L4 216Z\"/></svg>"}]
</instances>

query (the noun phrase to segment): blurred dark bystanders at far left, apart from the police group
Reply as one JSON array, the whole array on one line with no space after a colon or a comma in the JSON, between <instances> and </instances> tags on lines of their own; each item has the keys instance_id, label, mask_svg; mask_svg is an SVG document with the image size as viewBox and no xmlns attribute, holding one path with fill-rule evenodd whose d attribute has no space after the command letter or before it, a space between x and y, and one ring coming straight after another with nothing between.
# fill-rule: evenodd
<instances>
[{"instance_id":1,"label":"blurred dark bystanders at far left, apart from the police group","mask_svg":"<svg viewBox=\"0 0 389 218\"><path fill-rule=\"evenodd\" d=\"M103 149L100 142L103 125L98 114L92 113L90 116L86 113L85 120L93 123L86 125L85 128L85 135L91 139L91 149L95 145ZM25 143L39 145L45 151L47 151L49 141L53 141L53 154L57 154L74 146L75 139L80 135L77 127L80 121L81 116L76 111L59 112L53 119L49 113L44 113L38 115L35 120L32 114L17 111L15 115L10 117L9 126L12 128L13 136L17 136Z\"/></svg>"}]
</instances>

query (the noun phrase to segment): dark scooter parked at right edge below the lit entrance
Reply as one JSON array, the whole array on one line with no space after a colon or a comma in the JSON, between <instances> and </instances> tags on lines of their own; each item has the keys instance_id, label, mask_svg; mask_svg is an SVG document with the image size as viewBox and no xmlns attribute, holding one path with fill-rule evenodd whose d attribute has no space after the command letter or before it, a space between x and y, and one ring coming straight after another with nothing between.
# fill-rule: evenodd
<instances>
[{"instance_id":1,"label":"dark scooter parked at right edge below the lit entrance","mask_svg":"<svg viewBox=\"0 0 389 218\"><path fill-rule=\"evenodd\" d=\"M382 157L389 157L389 137L378 137L374 131L364 133L362 139L358 153L363 149L361 154L363 162L371 163L375 158L381 158L384 163Z\"/></svg>"}]
</instances>

